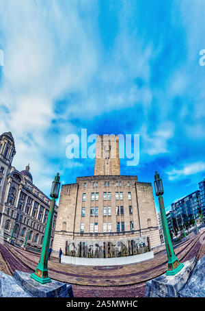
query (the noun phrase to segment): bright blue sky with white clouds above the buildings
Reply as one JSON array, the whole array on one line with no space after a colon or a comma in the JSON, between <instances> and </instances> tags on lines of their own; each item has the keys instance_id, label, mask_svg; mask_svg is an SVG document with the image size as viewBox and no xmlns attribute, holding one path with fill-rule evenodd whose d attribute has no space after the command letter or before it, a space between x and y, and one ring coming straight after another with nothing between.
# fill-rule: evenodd
<instances>
[{"instance_id":1,"label":"bright blue sky with white clouds above the buildings","mask_svg":"<svg viewBox=\"0 0 205 311\"><path fill-rule=\"evenodd\" d=\"M66 158L66 136L139 134L140 161L123 175L163 177L165 205L205 177L203 0L1 0L0 132L16 142L49 195L93 175L94 160ZM156 201L156 207L158 203Z\"/></svg>"}]
</instances>

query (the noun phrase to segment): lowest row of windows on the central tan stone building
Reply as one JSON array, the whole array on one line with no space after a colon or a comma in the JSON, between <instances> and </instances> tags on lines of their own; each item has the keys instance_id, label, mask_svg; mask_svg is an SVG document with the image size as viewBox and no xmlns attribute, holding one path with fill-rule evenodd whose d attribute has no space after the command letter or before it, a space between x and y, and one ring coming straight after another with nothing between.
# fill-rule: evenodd
<instances>
[{"instance_id":1,"label":"lowest row of windows on the central tan stone building","mask_svg":"<svg viewBox=\"0 0 205 311\"><path fill-rule=\"evenodd\" d=\"M112 232L112 225L111 223L103 223L103 232ZM121 228L121 229L120 229ZM84 232L85 223L81 223L81 233ZM133 221L130 221L130 229L131 231L134 230ZM124 221L119 221L116 223L116 231L123 232L124 231ZM90 223L90 233L98 233L98 223Z\"/></svg>"}]
</instances>

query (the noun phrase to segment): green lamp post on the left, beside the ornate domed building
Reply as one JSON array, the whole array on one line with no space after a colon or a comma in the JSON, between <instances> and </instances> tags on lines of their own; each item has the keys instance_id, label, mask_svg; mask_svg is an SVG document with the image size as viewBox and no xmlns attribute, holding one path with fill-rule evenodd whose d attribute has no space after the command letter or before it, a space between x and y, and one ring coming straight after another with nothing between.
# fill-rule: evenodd
<instances>
[{"instance_id":1,"label":"green lamp post on the left, beside the ornate domed building","mask_svg":"<svg viewBox=\"0 0 205 311\"><path fill-rule=\"evenodd\" d=\"M58 198L59 195L59 173L55 176L55 180L53 181L52 187L51 187L51 204L50 204L50 210L49 215L46 223L46 229L44 233L44 240L42 242L42 250L40 253L40 261L38 263L38 266L36 268L36 271L31 274L31 278L35 279L35 281L46 284L51 282L51 278L48 275L48 258L49 258L49 245L51 240L51 228L53 223L53 213L55 208L55 199Z\"/></svg>"}]
</instances>

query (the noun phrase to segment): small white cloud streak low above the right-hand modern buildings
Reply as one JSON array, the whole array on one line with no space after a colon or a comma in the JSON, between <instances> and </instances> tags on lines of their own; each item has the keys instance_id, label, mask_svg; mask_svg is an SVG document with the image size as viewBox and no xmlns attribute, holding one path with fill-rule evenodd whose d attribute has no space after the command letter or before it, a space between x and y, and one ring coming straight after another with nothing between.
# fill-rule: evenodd
<instances>
[{"instance_id":1,"label":"small white cloud streak low above the right-hand modern buildings","mask_svg":"<svg viewBox=\"0 0 205 311\"><path fill-rule=\"evenodd\" d=\"M183 179L187 176L200 173L205 171L205 162L193 162L189 164L184 164L182 169L172 169L172 171L167 171L168 179Z\"/></svg>"}]
</instances>

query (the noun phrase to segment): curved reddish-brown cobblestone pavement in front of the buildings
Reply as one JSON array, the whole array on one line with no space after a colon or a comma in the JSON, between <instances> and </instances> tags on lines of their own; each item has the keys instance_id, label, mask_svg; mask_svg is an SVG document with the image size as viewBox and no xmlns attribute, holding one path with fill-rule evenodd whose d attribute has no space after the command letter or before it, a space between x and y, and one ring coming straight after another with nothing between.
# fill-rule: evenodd
<instances>
[{"instance_id":1,"label":"curved reddish-brown cobblestone pavement in front of the buildings","mask_svg":"<svg viewBox=\"0 0 205 311\"><path fill-rule=\"evenodd\" d=\"M204 254L205 232L175 247L181 262ZM11 273L14 270L32 272L36 269L39 254L13 247L8 243L0 245L0 251ZM165 273L166 252L157 253L152 260L124 266L74 266L59 264L56 258L49 260L49 275L53 279L72 284L75 297L143 297L146 281Z\"/></svg>"}]
</instances>

